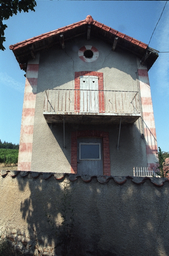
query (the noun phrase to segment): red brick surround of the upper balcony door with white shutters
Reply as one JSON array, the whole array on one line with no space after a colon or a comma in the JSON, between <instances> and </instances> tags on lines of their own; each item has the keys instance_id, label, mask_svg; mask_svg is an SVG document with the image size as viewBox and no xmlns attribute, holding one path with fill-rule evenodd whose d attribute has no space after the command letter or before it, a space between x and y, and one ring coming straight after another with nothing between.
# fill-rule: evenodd
<instances>
[{"instance_id":1,"label":"red brick surround of the upper balcony door with white shutters","mask_svg":"<svg viewBox=\"0 0 169 256\"><path fill-rule=\"evenodd\" d=\"M75 103L74 109L80 112L80 76L98 76L98 104L99 113L104 113L104 91L103 91L103 73L96 71L79 71L75 72Z\"/></svg>"}]
</instances>

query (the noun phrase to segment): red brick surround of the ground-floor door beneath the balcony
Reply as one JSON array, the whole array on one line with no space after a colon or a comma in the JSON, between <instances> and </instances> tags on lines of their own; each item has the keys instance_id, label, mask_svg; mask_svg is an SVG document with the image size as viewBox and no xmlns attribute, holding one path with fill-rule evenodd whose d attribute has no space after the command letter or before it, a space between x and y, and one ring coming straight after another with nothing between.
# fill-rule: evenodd
<instances>
[{"instance_id":1,"label":"red brick surround of the ground-floor door beneath the balcony","mask_svg":"<svg viewBox=\"0 0 169 256\"><path fill-rule=\"evenodd\" d=\"M110 149L108 132L85 130L72 132L71 134L71 173L77 174L77 150L79 137L99 137L103 138L103 175L110 176Z\"/></svg>"}]
</instances>

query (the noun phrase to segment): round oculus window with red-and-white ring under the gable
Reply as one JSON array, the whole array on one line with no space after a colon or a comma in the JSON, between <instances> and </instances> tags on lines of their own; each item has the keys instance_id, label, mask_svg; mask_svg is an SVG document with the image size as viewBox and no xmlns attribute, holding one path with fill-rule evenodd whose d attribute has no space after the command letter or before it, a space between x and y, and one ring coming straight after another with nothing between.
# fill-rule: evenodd
<instances>
[{"instance_id":1,"label":"round oculus window with red-and-white ring under the gable","mask_svg":"<svg viewBox=\"0 0 169 256\"><path fill-rule=\"evenodd\" d=\"M91 45L85 45L79 50L79 57L85 62L93 62L98 58L98 50Z\"/></svg>"}]
</instances>

